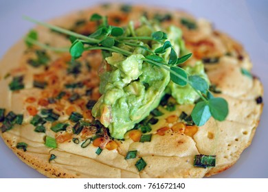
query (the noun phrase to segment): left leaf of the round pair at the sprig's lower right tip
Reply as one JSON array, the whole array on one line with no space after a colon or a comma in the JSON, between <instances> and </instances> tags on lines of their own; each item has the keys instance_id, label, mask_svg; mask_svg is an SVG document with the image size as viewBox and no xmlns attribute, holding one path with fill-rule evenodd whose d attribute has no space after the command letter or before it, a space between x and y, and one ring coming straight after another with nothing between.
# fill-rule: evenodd
<instances>
[{"instance_id":1,"label":"left leaf of the round pair at the sprig's lower right tip","mask_svg":"<svg viewBox=\"0 0 268 192\"><path fill-rule=\"evenodd\" d=\"M205 101L200 101L194 106L191 116L197 126L202 126L211 117L210 107Z\"/></svg>"}]
</instances>

